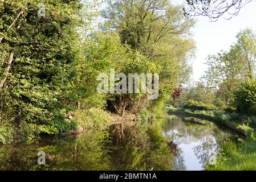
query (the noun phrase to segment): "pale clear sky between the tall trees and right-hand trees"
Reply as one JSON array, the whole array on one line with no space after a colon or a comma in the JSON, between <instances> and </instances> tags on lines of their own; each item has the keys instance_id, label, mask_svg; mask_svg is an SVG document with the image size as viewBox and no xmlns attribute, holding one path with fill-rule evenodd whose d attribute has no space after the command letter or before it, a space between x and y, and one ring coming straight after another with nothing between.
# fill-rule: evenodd
<instances>
[{"instance_id":1,"label":"pale clear sky between the tall trees and right-hand trees","mask_svg":"<svg viewBox=\"0 0 256 182\"><path fill-rule=\"evenodd\" d=\"M172 0L172 2L184 3L182 0ZM225 17L228 18L228 15ZM197 46L196 58L192 60L194 81L198 81L206 71L207 66L204 63L208 55L216 54L221 50L228 51L231 44L236 42L235 36L240 30L251 28L256 32L256 2L247 4L230 20L222 17L217 22L210 22L205 16L197 16L196 20L196 27L193 28Z\"/></svg>"}]
</instances>

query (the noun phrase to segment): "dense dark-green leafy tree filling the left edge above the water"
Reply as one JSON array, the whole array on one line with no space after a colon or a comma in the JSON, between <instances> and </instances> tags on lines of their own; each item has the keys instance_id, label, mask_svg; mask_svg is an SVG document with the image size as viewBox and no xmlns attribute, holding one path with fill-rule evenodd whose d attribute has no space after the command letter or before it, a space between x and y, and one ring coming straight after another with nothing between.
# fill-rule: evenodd
<instances>
[{"instance_id":1,"label":"dense dark-green leafy tree filling the left edge above the water","mask_svg":"<svg viewBox=\"0 0 256 182\"><path fill-rule=\"evenodd\" d=\"M65 121L63 93L78 59L79 1L0 1L1 125L25 137L59 133ZM6 97L8 96L8 97ZM3 115L9 115L6 120Z\"/></svg>"}]
</instances>

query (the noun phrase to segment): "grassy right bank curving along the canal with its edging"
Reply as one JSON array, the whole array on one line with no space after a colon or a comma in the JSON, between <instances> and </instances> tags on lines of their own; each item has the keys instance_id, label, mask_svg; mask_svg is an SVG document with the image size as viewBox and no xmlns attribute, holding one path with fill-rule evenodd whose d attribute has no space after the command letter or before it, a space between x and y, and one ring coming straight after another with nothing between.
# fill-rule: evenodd
<instances>
[{"instance_id":1,"label":"grassy right bank curving along the canal with its edging","mask_svg":"<svg viewBox=\"0 0 256 182\"><path fill-rule=\"evenodd\" d=\"M208 164L206 170L256 170L256 135L255 123L250 117L222 111L200 111L189 109L170 109L172 113L184 113L198 117L214 119L231 128L241 130L246 138L238 142L227 140L220 145L220 154L216 164Z\"/></svg>"}]
</instances>

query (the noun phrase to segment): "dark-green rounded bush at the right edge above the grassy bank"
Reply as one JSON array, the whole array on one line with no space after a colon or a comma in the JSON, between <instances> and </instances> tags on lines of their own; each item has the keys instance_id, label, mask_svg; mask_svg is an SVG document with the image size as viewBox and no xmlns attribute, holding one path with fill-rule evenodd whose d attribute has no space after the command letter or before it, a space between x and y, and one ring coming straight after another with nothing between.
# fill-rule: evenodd
<instances>
[{"instance_id":1,"label":"dark-green rounded bush at the right edge above the grassy bank","mask_svg":"<svg viewBox=\"0 0 256 182\"><path fill-rule=\"evenodd\" d=\"M239 113L256 114L256 80L247 80L234 92L234 104Z\"/></svg>"}]
</instances>

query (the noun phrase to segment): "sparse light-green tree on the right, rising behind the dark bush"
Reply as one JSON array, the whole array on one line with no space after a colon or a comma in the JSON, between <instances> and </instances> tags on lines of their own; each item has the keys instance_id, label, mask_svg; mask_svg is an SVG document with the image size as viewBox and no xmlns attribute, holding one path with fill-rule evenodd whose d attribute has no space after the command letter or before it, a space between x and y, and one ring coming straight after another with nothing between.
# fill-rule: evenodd
<instances>
[{"instance_id":1,"label":"sparse light-green tree on the right, rising behind the dark bush","mask_svg":"<svg viewBox=\"0 0 256 182\"><path fill-rule=\"evenodd\" d=\"M233 91L238 85L255 75L255 38L253 31L242 30L229 51L208 57L208 71L203 80L208 88L224 98L226 104L233 100Z\"/></svg>"}]
</instances>

